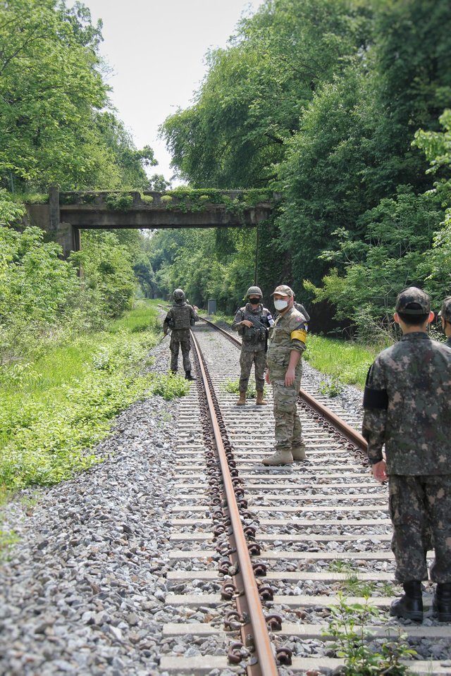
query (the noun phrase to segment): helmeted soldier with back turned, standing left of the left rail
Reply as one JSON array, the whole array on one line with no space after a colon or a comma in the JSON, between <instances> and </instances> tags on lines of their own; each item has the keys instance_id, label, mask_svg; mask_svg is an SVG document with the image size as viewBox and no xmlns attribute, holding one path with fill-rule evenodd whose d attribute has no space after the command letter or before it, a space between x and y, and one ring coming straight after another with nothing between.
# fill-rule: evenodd
<instances>
[{"instance_id":1,"label":"helmeted soldier with back turned, standing left of the left rail","mask_svg":"<svg viewBox=\"0 0 451 676\"><path fill-rule=\"evenodd\" d=\"M169 349L171 350L171 371L177 372L178 368L178 350L181 346L183 356L183 368L185 369L185 378L187 380L194 380L191 375L190 362L190 327L194 326L197 317L197 307L192 307L185 302L185 293L182 289L175 289L173 293L174 305L166 314L166 319L163 322L163 333L166 336L169 329L171 333L171 343Z\"/></svg>"}]
</instances>

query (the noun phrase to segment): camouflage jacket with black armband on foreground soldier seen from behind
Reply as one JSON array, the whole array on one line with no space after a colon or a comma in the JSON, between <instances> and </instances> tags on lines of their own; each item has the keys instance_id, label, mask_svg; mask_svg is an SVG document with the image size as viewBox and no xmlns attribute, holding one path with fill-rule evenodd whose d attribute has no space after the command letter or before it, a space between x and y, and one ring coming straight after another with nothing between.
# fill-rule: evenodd
<instances>
[{"instance_id":1,"label":"camouflage jacket with black armband on foreground soldier seen from behind","mask_svg":"<svg viewBox=\"0 0 451 676\"><path fill-rule=\"evenodd\" d=\"M366 379L362 434L388 474L451 474L451 351L422 331L383 350ZM369 405L371 404L371 405Z\"/></svg>"}]
</instances>

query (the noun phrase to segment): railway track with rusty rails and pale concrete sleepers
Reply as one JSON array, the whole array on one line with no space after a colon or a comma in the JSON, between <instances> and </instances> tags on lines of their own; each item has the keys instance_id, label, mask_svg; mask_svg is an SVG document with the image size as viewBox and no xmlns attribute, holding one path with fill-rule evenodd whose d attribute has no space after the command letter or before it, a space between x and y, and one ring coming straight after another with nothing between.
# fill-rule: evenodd
<instances>
[{"instance_id":1,"label":"railway track with rusty rails and pale concrete sleepers","mask_svg":"<svg viewBox=\"0 0 451 676\"><path fill-rule=\"evenodd\" d=\"M227 332L225 332L227 333ZM332 672L331 609L366 603L371 641L381 648L400 629L419 655L415 674L451 675L451 631L430 616L422 625L388 615L394 560L385 486L364 462L364 440L342 411L325 412L303 381L299 412L307 460L264 467L273 447L272 407L236 407L226 391L239 376L233 336L194 329L197 381L180 403L176 431L173 551L161 670L176 674L290 675ZM271 404L271 392L268 392ZM348 423L358 424L355 415ZM192 637L178 654L177 637ZM420 657L420 658L418 658Z\"/></svg>"}]
</instances>

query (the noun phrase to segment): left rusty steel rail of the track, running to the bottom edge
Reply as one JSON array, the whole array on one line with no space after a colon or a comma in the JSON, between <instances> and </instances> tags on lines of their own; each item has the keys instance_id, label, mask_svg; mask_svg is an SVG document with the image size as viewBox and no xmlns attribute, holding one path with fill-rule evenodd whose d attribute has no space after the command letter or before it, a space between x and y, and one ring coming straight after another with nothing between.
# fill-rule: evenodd
<instances>
[{"instance_id":1,"label":"left rusty steel rail of the track, running to the bottom edge","mask_svg":"<svg viewBox=\"0 0 451 676\"><path fill-rule=\"evenodd\" d=\"M254 568L252 566L249 551L247 548L246 536L242 529L240 511L238 509L237 500L235 497L235 490L233 487L232 477L230 476L228 461L226 457L226 450L224 449L221 430L219 429L218 422L216 420L216 414L214 411L214 402L211 397L209 383L206 378L205 367L204 364L202 363L201 358L202 352L199 348L199 343L197 343L197 339L194 336L194 333L191 332L191 336L194 348L197 352L199 369L201 371L202 381L204 383L206 398L209 405L211 426L213 428L216 448L218 450L218 459L221 464L224 491L226 493L228 512L237 548L237 558L240 564L240 574L242 576L242 581L245 589L245 596L247 599L247 606L249 608L249 620L252 625L252 632L254 634L254 647L255 650L257 651L258 656L258 663L248 665L247 672L249 673L249 675L252 674L252 676L257 676L260 674L261 676L277 676L278 667L276 665L276 660L274 658L273 649L271 646L271 639L269 638L268 634L266 618L263 613L263 608L261 607L259 590L257 588L257 582L254 576ZM245 636L242 636L242 638L243 645L244 646L249 645L249 636L247 630L245 632Z\"/></svg>"}]
</instances>

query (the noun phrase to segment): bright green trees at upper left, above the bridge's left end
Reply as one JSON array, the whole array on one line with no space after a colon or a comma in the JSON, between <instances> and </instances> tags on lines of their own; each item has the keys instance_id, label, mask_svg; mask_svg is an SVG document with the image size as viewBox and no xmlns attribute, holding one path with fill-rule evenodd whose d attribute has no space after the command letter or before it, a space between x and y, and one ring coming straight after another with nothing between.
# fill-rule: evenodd
<instances>
[{"instance_id":1,"label":"bright green trees at upper left, above the bridge's left end","mask_svg":"<svg viewBox=\"0 0 451 676\"><path fill-rule=\"evenodd\" d=\"M64 0L0 2L0 181L11 190L141 189L137 150L109 107L101 21Z\"/></svg>"}]
</instances>

